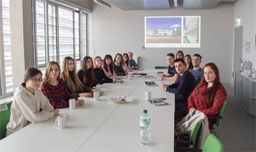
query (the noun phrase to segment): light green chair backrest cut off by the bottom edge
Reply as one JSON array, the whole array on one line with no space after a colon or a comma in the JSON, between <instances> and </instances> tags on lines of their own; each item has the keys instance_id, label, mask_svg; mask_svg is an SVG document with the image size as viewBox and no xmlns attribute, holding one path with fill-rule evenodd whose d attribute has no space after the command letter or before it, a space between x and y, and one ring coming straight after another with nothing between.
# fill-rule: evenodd
<instances>
[{"instance_id":1,"label":"light green chair backrest cut off by the bottom edge","mask_svg":"<svg viewBox=\"0 0 256 152\"><path fill-rule=\"evenodd\" d=\"M223 152L223 143L221 143L218 138L210 134L203 144L202 151Z\"/></svg>"}]
</instances>

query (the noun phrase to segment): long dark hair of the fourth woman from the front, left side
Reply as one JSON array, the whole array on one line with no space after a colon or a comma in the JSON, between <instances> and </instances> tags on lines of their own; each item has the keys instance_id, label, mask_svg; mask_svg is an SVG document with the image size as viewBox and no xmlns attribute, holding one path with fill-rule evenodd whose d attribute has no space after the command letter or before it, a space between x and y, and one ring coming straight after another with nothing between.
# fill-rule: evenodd
<instances>
[{"instance_id":1,"label":"long dark hair of the fourth woman from the front, left side","mask_svg":"<svg viewBox=\"0 0 256 152\"><path fill-rule=\"evenodd\" d=\"M92 66L87 69L87 60L91 59ZM90 56L85 56L82 60L81 69L79 71L83 71L83 83L93 85L95 82L95 74L93 73L93 58ZM91 83L88 82L88 77L91 77Z\"/></svg>"}]
</instances>

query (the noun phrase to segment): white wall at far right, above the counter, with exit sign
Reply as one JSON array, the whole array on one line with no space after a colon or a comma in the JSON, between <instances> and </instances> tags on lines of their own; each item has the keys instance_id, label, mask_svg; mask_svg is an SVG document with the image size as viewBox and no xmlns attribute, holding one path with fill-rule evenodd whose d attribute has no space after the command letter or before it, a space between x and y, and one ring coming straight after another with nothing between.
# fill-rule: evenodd
<instances>
[{"instance_id":1,"label":"white wall at far right, above the counter, with exit sign","mask_svg":"<svg viewBox=\"0 0 256 152\"><path fill-rule=\"evenodd\" d=\"M243 26L243 39L249 42L251 49L249 53L245 52L245 47L242 50L242 60L253 62L253 68L256 69L256 52L255 52L255 0L238 0L234 5L234 28ZM240 25L236 26L236 18L240 18ZM245 45L245 43L244 43Z\"/></svg>"}]
</instances>

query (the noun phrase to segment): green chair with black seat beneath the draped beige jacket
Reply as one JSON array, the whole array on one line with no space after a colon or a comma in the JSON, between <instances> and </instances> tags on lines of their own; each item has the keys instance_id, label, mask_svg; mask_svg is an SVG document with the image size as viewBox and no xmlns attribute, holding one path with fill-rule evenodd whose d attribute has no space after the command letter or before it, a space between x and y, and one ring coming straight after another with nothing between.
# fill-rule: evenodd
<instances>
[{"instance_id":1,"label":"green chair with black seat beneath the draped beige jacket","mask_svg":"<svg viewBox=\"0 0 256 152\"><path fill-rule=\"evenodd\" d=\"M194 145L196 145L196 140L198 139L198 133L200 131L200 128L202 126L202 121L198 121L198 123L195 124L195 126L192 128L192 131L189 136L189 141L184 140L175 140L176 144L179 144L177 147L181 147L182 145L190 145L190 148L194 148Z\"/></svg>"}]
</instances>

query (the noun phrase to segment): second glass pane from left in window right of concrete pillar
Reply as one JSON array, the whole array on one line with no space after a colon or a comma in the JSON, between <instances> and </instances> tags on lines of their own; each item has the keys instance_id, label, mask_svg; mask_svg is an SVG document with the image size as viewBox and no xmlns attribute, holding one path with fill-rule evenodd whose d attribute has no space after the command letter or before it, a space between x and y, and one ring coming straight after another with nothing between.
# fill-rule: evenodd
<instances>
[{"instance_id":1,"label":"second glass pane from left in window right of concrete pillar","mask_svg":"<svg viewBox=\"0 0 256 152\"><path fill-rule=\"evenodd\" d=\"M56 6L48 5L49 61L57 61L56 50Z\"/></svg>"}]
</instances>

